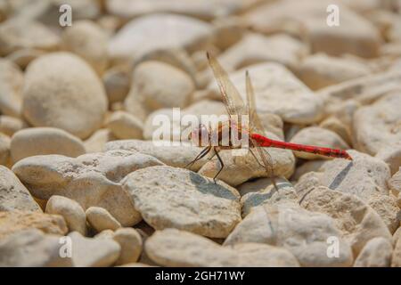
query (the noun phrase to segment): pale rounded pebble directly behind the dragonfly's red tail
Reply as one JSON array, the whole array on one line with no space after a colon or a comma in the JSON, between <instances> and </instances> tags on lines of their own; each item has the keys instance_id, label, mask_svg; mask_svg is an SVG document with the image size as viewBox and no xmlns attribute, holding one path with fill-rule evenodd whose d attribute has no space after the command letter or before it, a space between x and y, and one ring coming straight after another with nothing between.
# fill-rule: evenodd
<instances>
[{"instance_id":1,"label":"pale rounded pebble directly behind the dragonfly's red tail","mask_svg":"<svg viewBox=\"0 0 401 285\"><path fill-rule=\"evenodd\" d=\"M339 134L319 126L307 126L291 138L292 143L321 146L331 149L348 150L349 145ZM330 159L315 153L294 151L299 159Z\"/></svg>"}]
</instances>

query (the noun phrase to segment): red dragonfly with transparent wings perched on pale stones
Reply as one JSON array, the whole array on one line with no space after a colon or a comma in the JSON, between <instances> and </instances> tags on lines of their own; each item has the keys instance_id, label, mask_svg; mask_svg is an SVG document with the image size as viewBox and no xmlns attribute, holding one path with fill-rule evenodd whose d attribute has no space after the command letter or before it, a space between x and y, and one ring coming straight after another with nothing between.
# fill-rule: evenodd
<instances>
[{"instance_id":1,"label":"red dragonfly with transparent wings perched on pale stones","mask_svg":"<svg viewBox=\"0 0 401 285\"><path fill-rule=\"evenodd\" d=\"M291 151L311 152L326 157L352 160L347 151L312 145L304 145L299 143L275 141L264 136L264 127L260 123L260 119L258 118L258 114L255 108L254 92L250 82L249 72L246 72L247 104L245 105L241 99L241 95L239 94L238 90L235 88L235 86L229 79L228 74L221 67L216 58L211 56L209 53L207 53L207 56L210 68L213 70L214 76L217 80L217 85L220 89L220 93L223 96L223 101L225 103L225 109L227 110L229 116L229 121L219 122L217 128L215 129L212 129L210 126L204 126L201 124L192 130L192 133L189 134L189 139L195 145L205 148L195 159L192 160L192 162L188 166L191 166L196 161L202 159L209 153L209 151L213 150L213 157L216 155L220 163L220 169L213 178L216 183L217 176L225 167L223 160L219 155L219 151L241 148L241 144L233 142L232 134L235 134L235 132L237 132L237 137L247 137L249 139L248 146L250 153L258 161L258 164L261 167L266 168L268 174L273 174L274 169L271 163L270 155L264 149L265 147L287 149ZM243 126L243 124L241 124L241 122L239 121L239 118L241 118L241 116L246 116L248 118L248 126ZM261 162L255 155L254 151L258 153ZM275 183L274 187L276 188Z\"/></svg>"}]
</instances>

